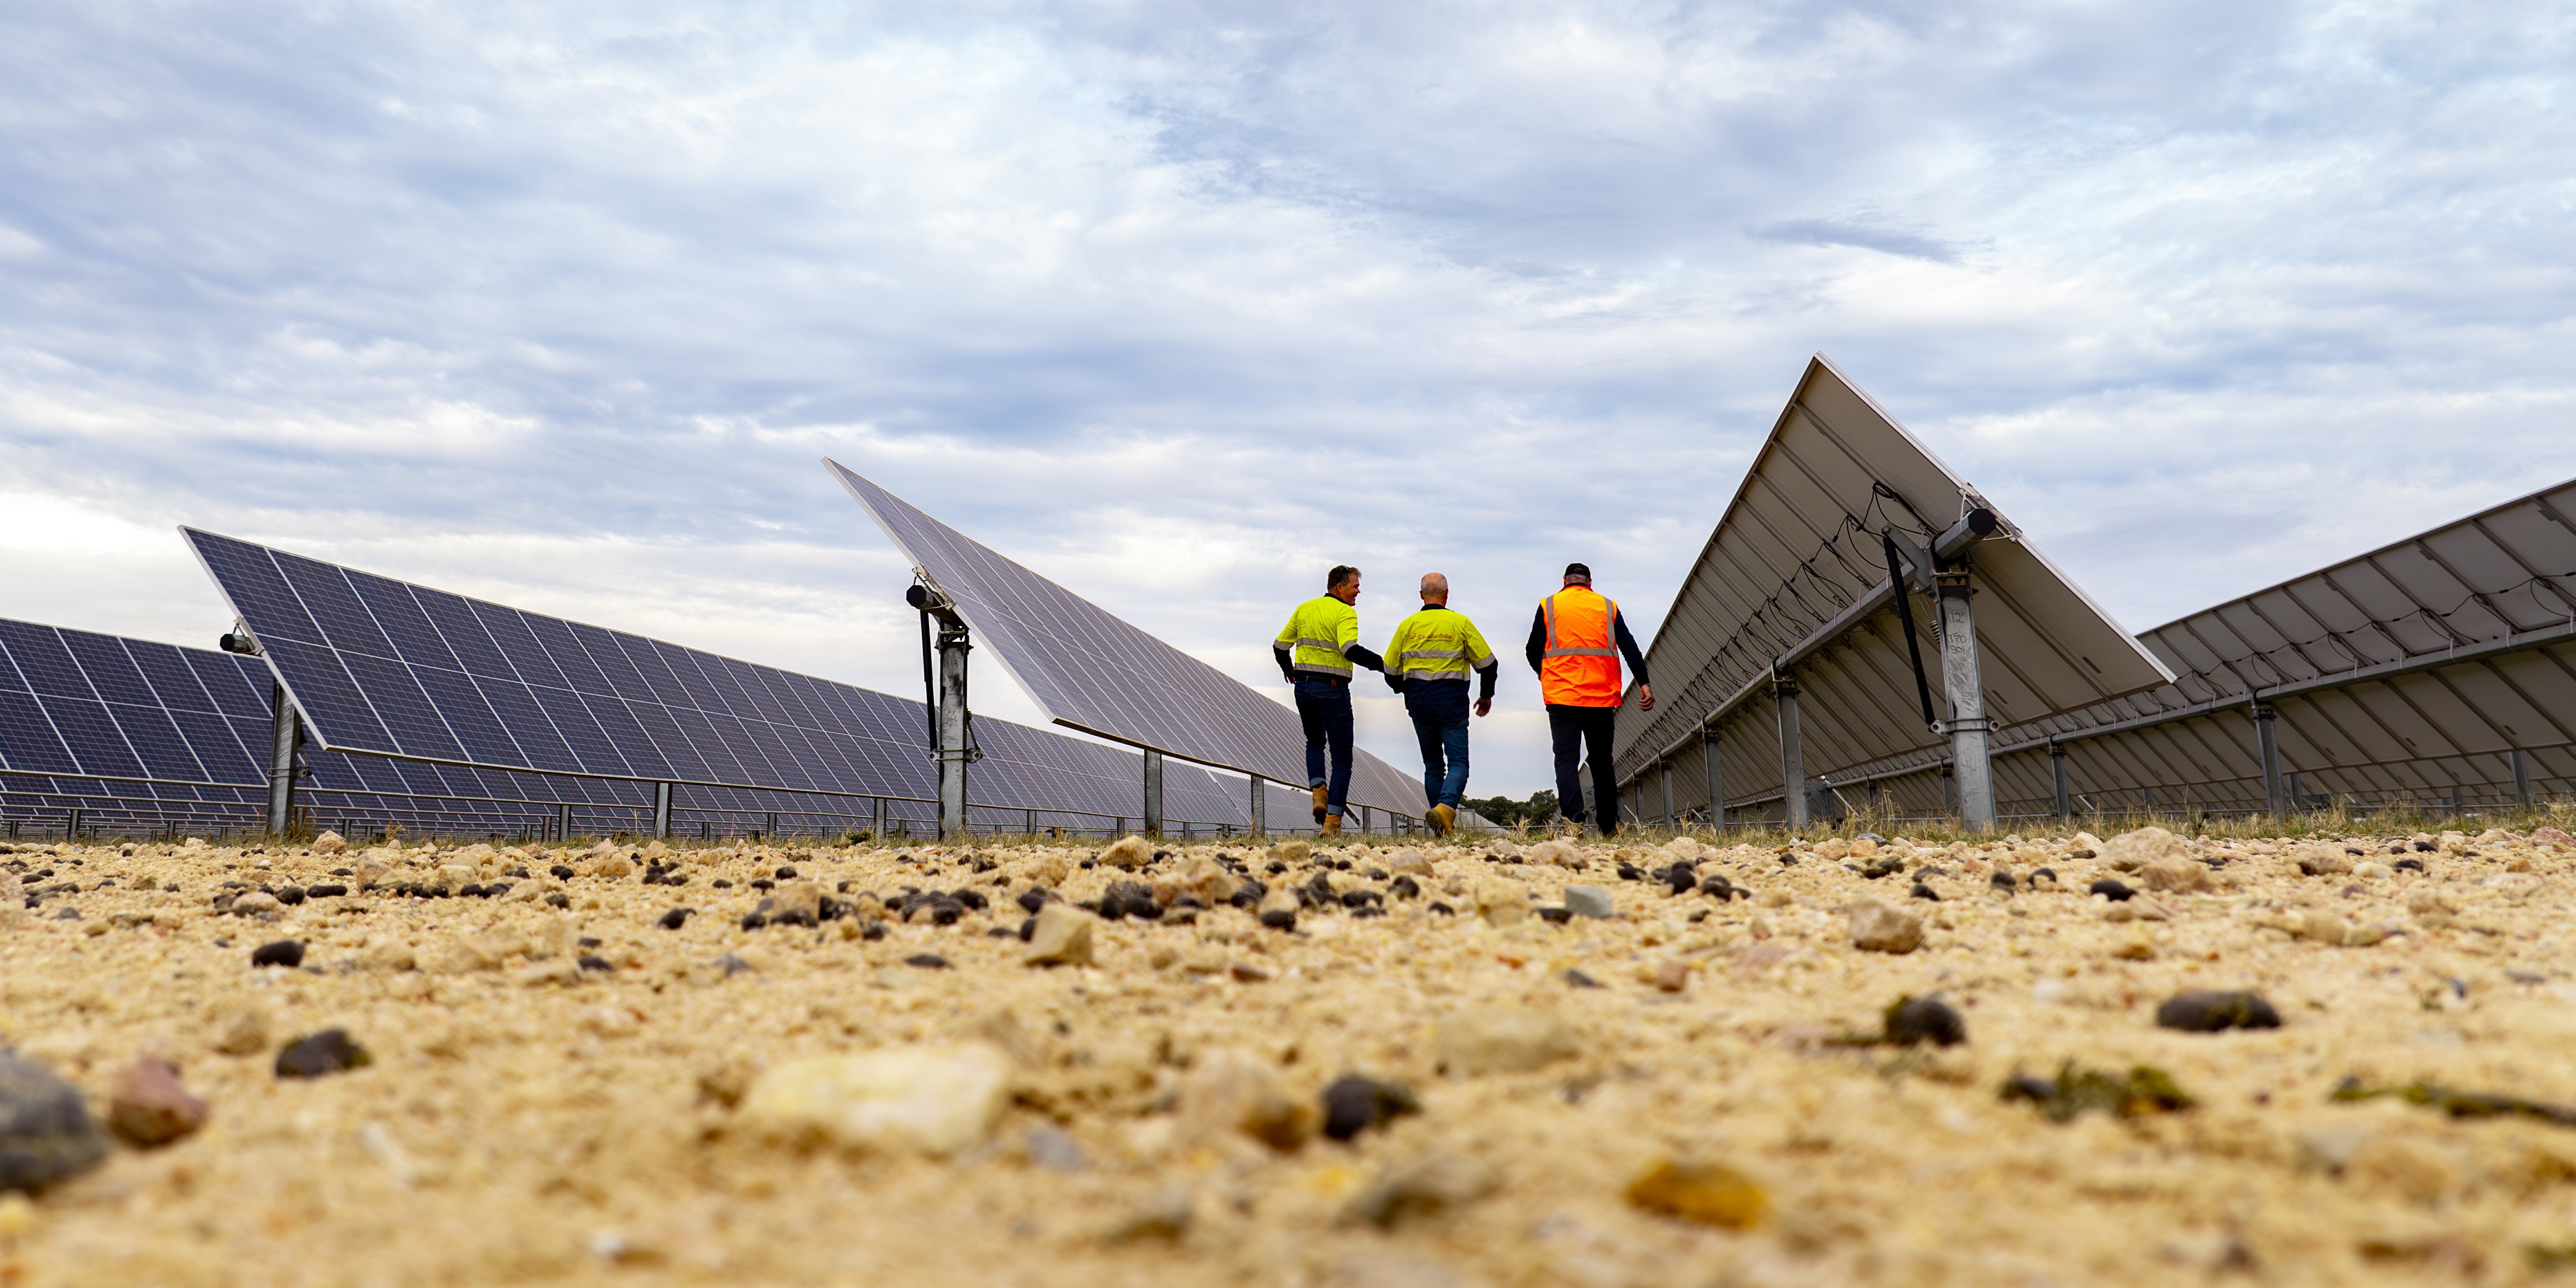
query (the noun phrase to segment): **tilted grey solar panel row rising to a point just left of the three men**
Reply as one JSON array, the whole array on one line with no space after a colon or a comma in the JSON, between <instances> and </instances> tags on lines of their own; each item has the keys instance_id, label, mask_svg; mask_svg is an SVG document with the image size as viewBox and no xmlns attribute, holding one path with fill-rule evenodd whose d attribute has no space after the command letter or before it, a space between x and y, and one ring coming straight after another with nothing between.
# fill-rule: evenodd
<instances>
[{"instance_id":1,"label":"tilted grey solar panel row rising to a point just left of the three men","mask_svg":"<svg viewBox=\"0 0 2576 1288\"><path fill-rule=\"evenodd\" d=\"M824 464L886 538L958 600L966 623L1051 721L1275 783L1306 781L1306 734L1296 711L914 510L842 464ZM1358 752L1350 801L1419 814L1422 783ZM1298 799L1291 809L1273 817L1298 819L1309 804Z\"/></svg>"}]
</instances>

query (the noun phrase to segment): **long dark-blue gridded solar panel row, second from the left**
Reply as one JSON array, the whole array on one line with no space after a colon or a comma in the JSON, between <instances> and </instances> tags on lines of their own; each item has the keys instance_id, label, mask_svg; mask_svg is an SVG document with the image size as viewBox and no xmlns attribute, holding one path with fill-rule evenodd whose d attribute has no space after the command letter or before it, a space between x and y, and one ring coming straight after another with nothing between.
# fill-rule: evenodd
<instances>
[{"instance_id":1,"label":"long dark-blue gridded solar panel row, second from the left","mask_svg":"<svg viewBox=\"0 0 2576 1288\"><path fill-rule=\"evenodd\" d=\"M917 701L183 533L327 750L549 781L935 793ZM1144 811L1133 752L989 719L976 734L979 809L1064 814L1056 824ZM1203 770L1170 775L1164 793L1175 822L1247 817Z\"/></svg>"}]
</instances>

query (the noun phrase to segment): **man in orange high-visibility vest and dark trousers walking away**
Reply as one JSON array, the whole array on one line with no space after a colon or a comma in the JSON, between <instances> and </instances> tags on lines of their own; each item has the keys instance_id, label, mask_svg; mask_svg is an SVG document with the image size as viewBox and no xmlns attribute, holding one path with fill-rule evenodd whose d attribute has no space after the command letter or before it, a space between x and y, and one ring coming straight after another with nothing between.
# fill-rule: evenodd
<instances>
[{"instance_id":1,"label":"man in orange high-visibility vest and dark trousers walking away","mask_svg":"<svg viewBox=\"0 0 2576 1288\"><path fill-rule=\"evenodd\" d=\"M1566 587L1538 600L1530 618L1530 670L1548 703L1548 734L1556 739L1556 809L1571 824L1584 819L1582 760L1592 757L1592 806L1600 835L1618 832L1618 770L1610 765L1610 729L1618 724L1618 659L1636 672L1636 706L1654 711L1654 685L1646 683L1646 654L1628 634L1618 603L1592 590L1592 569L1566 564Z\"/></svg>"}]
</instances>

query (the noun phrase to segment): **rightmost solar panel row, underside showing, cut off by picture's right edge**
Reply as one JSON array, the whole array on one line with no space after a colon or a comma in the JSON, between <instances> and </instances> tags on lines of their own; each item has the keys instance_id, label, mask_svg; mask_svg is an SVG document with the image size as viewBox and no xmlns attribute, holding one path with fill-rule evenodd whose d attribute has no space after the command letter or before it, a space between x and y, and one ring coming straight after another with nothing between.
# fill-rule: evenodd
<instances>
[{"instance_id":1,"label":"rightmost solar panel row, underside showing, cut off by picture's right edge","mask_svg":"<svg viewBox=\"0 0 2576 1288\"><path fill-rule=\"evenodd\" d=\"M2285 801L2419 809L2576 786L2576 479L2146 631L2174 672L1996 744L2014 811L2264 809L2254 698ZM2519 773L2514 760L2519 757ZM2519 778L2519 786L2517 786Z\"/></svg>"}]
</instances>

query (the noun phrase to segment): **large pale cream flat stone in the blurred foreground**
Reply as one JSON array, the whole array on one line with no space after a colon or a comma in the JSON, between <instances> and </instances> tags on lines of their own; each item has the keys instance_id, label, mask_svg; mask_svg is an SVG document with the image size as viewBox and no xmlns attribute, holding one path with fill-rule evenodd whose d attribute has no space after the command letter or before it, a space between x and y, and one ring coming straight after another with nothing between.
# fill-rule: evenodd
<instances>
[{"instance_id":1,"label":"large pale cream flat stone in the blurred foreground","mask_svg":"<svg viewBox=\"0 0 2576 1288\"><path fill-rule=\"evenodd\" d=\"M1007 1097L1010 1056L997 1046L889 1046L770 1069L742 1115L796 1144L951 1157L992 1131Z\"/></svg>"}]
</instances>

